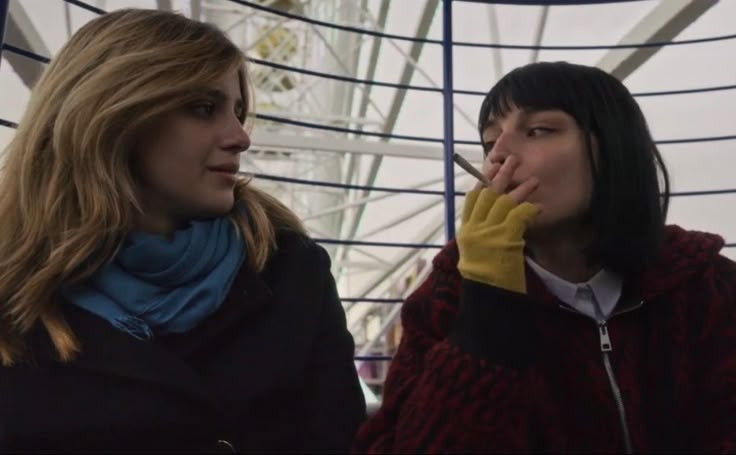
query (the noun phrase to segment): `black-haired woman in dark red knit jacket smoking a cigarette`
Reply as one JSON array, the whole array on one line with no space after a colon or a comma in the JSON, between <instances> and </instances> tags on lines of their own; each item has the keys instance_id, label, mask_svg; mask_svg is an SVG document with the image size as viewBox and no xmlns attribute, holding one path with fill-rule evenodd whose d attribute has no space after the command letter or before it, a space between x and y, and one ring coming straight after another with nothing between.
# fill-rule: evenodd
<instances>
[{"instance_id":1,"label":"black-haired woman in dark red knit jacket smoking a cigarette","mask_svg":"<svg viewBox=\"0 0 736 455\"><path fill-rule=\"evenodd\" d=\"M488 187L406 301L356 452L736 452L736 264L666 226L626 88L531 64L487 95Z\"/></svg>"}]
</instances>

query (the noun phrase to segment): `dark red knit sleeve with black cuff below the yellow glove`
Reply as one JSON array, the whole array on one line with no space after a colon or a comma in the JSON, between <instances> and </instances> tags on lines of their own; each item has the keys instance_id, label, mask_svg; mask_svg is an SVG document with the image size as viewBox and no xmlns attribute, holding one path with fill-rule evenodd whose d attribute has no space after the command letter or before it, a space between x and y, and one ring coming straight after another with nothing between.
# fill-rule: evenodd
<instances>
[{"instance_id":1,"label":"dark red knit sleeve with black cuff below the yellow glove","mask_svg":"<svg viewBox=\"0 0 736 455\"><path fill-rule=\"evenodd\" d=\"M529 311L525 295L435 267L404 303L382 406L353 450L529 451Z\"/></svg>"}]
</instances>

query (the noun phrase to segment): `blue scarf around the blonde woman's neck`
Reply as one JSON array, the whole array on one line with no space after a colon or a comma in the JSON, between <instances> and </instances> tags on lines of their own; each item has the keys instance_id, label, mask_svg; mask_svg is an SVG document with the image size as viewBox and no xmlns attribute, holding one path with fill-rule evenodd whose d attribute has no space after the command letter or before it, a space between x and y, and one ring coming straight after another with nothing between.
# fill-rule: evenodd
<instances>
[{"instance_id":1,"label":"blue scarf around the blonde woman's neck","mask_svg":"<svg viewBox=\"0 0 736 455\"><path fill-rule=\"evenodd\" d=\"M173 240L132 232L114 260L62 290L72 304L141 340L182 333L214 313L245 259L227 217L193 221Z\"/></svg>"}]
</instances>

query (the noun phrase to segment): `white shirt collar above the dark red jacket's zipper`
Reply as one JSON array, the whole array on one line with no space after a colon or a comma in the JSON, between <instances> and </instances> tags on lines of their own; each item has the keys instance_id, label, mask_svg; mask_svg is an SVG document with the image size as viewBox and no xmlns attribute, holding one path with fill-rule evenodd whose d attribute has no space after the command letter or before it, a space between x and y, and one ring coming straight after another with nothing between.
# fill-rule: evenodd
<instances>
[{"instance_id":1,"label":"white shirt collar above the dark red jacket's zipper","mask_svg":"<svg viewBox=\"0 0 736 455\"><path fill-rule=\"evenodd\" d=\"M597 322L609 318L621 297L623 281L608 270L601 270L585 283L571 283L545 270L529 257L526 262L552 294Z\"/></svg>"}]
</instances>

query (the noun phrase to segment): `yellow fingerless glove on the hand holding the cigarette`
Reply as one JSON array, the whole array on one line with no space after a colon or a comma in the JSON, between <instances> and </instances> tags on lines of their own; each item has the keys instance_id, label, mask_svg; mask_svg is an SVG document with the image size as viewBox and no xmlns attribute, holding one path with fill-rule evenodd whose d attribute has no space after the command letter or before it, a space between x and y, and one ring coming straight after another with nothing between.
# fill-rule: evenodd
<instances>
[{"instance_id":1,"label":"yellow fingerless glove on the hand holding the cigarette","mask_svg":"<svg viewBox=\"0 0 736 455\"><path fill-rule=\"evenodd\" d=\"M463 278L526 293L524 232L538 211L490 188L470 191L457 234Z\"/></svg>"}]
</instances>

